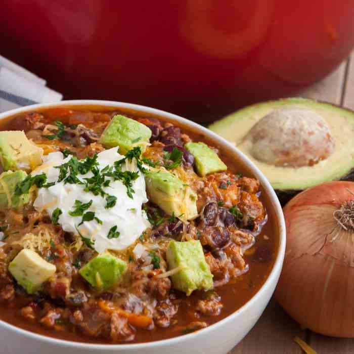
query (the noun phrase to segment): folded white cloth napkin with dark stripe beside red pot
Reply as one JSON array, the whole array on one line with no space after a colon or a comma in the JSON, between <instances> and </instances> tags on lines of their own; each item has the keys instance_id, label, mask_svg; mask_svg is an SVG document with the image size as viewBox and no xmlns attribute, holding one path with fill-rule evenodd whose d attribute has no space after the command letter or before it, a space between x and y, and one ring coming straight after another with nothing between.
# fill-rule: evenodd
<instances>
[{"instance_id":1,"label":"folded white cloth napkin with dark stripe beside red pot","mask_svg":"<svg viewBox=\"0 0 354 354\"><path fill-rule=\"evenodd\" d=\"M46 80L0 56L0 113L34 103L58 102L63 95L46 87Z\"/></svg>"}]
</instances>

